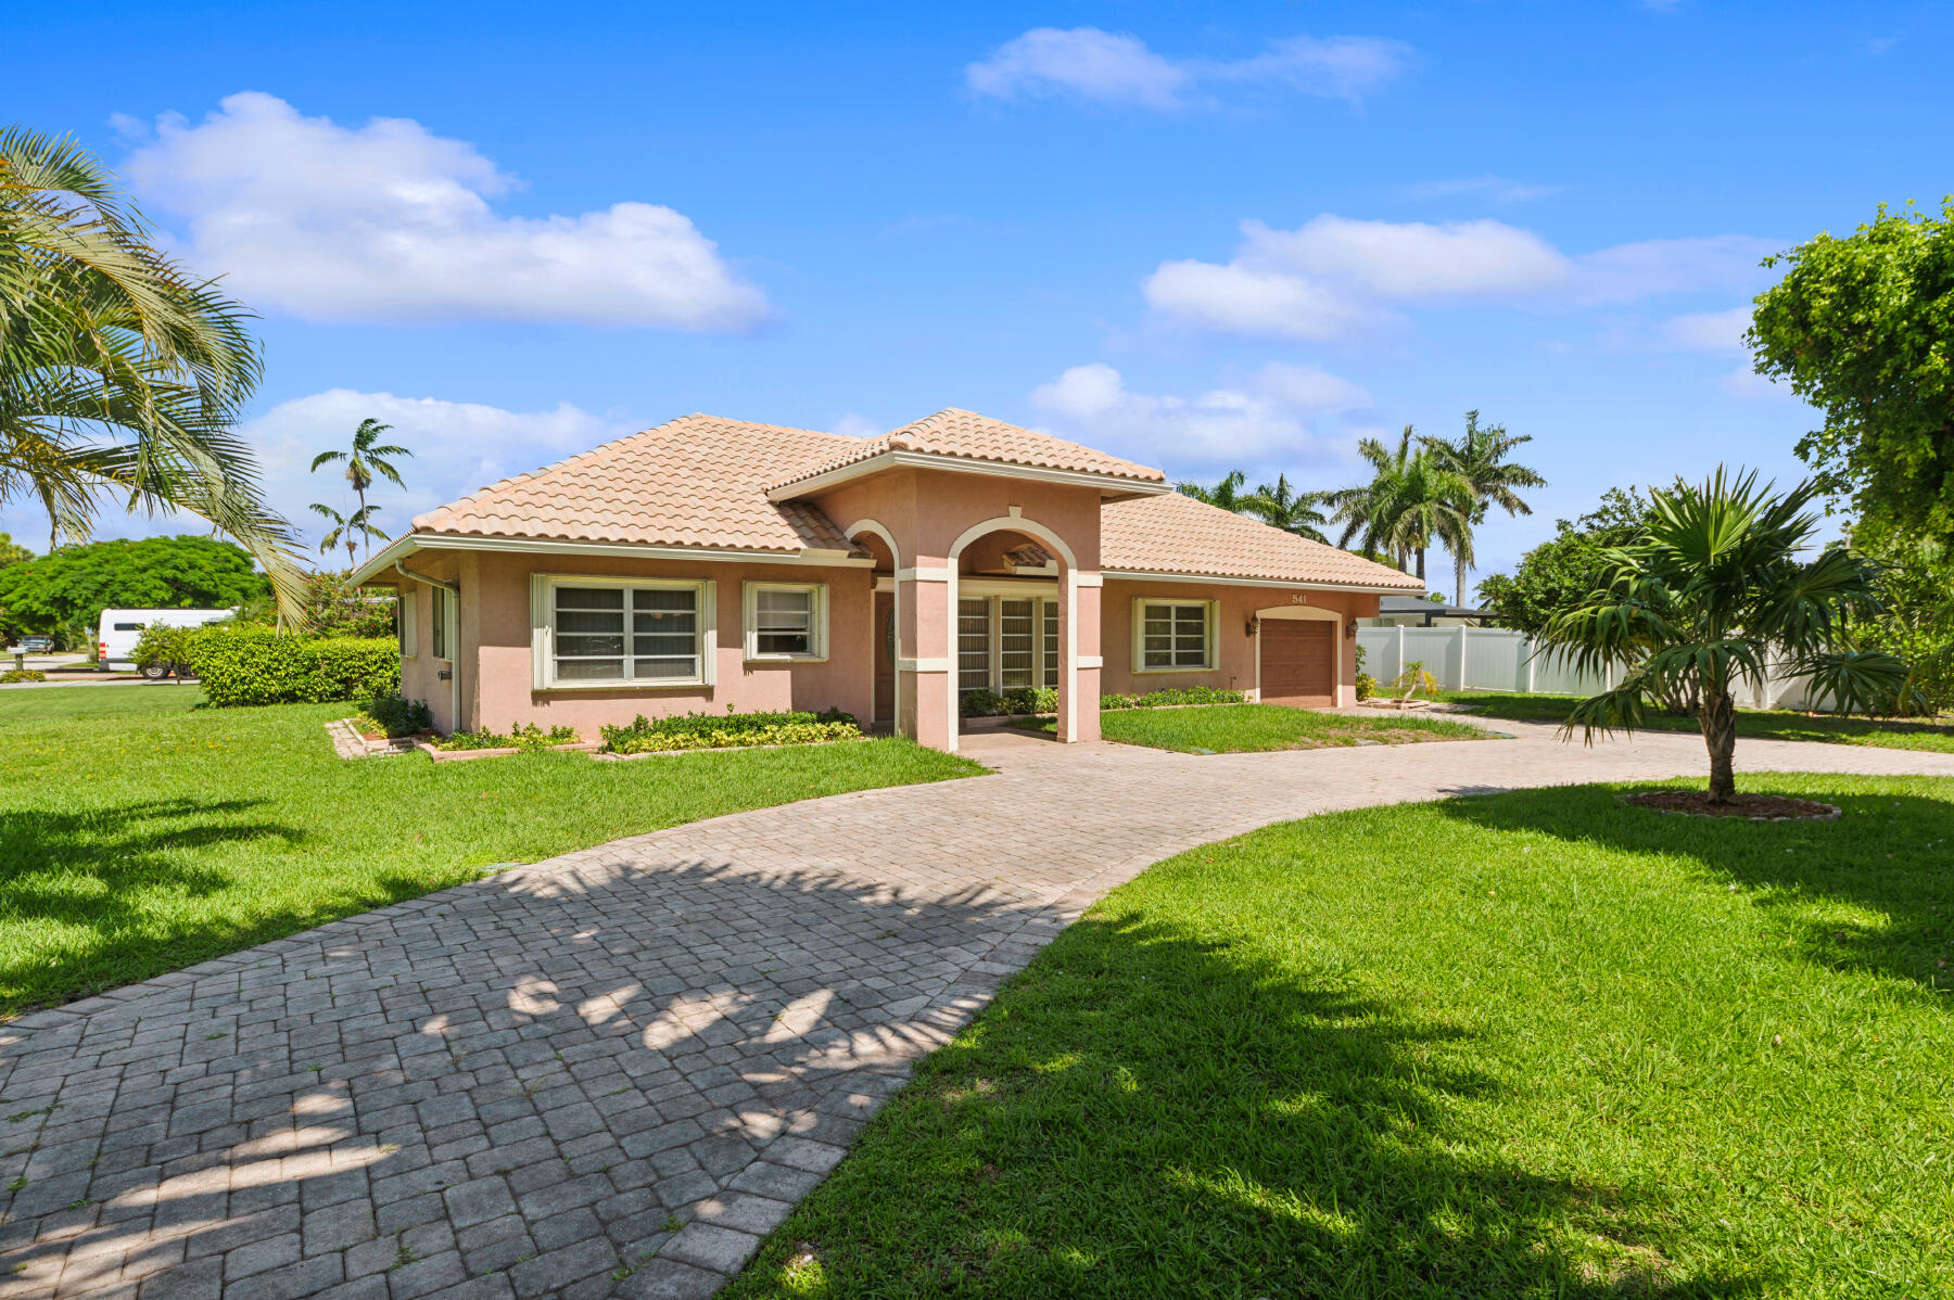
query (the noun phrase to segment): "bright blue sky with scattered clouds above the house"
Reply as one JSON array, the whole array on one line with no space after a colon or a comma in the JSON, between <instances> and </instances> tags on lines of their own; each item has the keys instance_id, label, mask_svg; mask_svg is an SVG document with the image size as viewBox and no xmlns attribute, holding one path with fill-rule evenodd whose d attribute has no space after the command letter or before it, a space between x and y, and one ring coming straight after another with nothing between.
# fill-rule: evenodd
<instances>
[{"instance_id":1,"label":"bright blue sky with scattered clouds above the house","mask_svg":"<svg viewBox=\"0 0 1954 1300\"><path fill-rule=\"evenodd\" d=\"M287 511L361 416L383 523L707 410L967 406L1213 478L1462 412L1551 488L1796 476L1757 260L1954 189L1948 6L96 4L10 107L262 314ZM154 531L104 519L104 533ZM0 529L35 541L31 509ZM1434 586L1450 568L1434 560Z\"/></svg>"}]
</instances>

